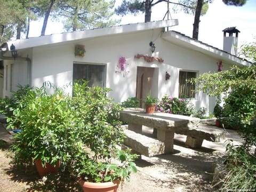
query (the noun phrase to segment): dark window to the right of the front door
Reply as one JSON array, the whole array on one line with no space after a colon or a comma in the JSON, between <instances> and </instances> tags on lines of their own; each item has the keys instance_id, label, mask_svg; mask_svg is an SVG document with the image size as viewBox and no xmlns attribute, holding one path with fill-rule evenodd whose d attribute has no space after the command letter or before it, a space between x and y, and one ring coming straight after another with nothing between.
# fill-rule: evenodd
<instances>
[{"instance_id":1,"label":"dark window to the right of the front door","mask_svg":"<svg viewBox=\"0 0 256 192\"><path fill-rule=\"evenodd\" d=\"M179 74L179 98L195 98L195 84L187 82L191 78L196 78L196 72L180 71Z\"/></svg>"}]
</instances>

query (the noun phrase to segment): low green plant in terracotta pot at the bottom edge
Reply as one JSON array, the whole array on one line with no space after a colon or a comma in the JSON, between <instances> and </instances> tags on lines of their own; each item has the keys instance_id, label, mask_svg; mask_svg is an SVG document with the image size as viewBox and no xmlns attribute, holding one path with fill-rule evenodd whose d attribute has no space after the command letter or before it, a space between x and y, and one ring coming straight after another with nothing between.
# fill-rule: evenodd
<instances>
[{"instance_id":1,"label":"low green plant in terracotta pot at the bottom edge","mask_svg":"<svg viewBox=\"0 0 256 192\"><path fill-rule=\"evenodd\" d=\"M81 156L80 156L81 157ZM79 184L84 191L116 191L119 183L130 180L130 174L137 172L134 158L129 152L117 150L111 158L105 161L95 161L93 158L83 158L75 163L75 170L79 175ZM85 160L86 159L86 160ZM117 163L118 161L118 163Z\"/></svg>"}]
</instances>

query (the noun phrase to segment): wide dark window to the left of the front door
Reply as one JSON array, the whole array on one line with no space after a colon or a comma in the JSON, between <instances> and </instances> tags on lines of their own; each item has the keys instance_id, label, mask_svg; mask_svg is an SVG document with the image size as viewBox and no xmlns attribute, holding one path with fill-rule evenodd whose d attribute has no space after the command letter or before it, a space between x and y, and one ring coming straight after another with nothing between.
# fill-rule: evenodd
<instances>
[{"instance_id":1,"label":"wide dark window to the left of the front door","mask_svg":"<svg viewBox=\"0 0 256 192\"><path fill-rule=\"evenodd\" d=\"M88 86L105 87L105 65L79 64L73 65L73 81L84 79L89 81Z\"/></svg>"}]
</instances>

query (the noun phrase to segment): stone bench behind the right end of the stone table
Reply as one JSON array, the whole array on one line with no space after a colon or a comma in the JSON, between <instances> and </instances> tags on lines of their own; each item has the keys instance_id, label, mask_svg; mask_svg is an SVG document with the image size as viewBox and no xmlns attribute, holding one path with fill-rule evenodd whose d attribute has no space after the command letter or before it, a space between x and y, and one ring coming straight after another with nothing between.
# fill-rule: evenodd
<instances>
[{"instance_id":1,"label":"stone bench behind the right end of the stone table","mask_svg":"<svg viewBox=\"0 0 256 192\"><path fill-rule=\"evenodd\" d=\"M220 142L226 137L225 131L202 125L198 126L196 129L175 129L175 133L187 135L186 145L191 148L200 148L204 139L212 142Z\"/></svg>"}]
</instances>

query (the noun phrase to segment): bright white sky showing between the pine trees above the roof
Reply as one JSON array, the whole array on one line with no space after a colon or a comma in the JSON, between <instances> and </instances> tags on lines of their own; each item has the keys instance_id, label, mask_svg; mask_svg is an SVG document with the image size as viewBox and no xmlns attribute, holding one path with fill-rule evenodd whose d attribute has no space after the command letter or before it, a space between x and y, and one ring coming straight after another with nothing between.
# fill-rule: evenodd
<instances>
[{"instance_id":1,"label":"bright white sky showing between the pine trees above the roof","mask_svg":"<svg viewBox=\"0 0 256 192\"><path fill-rule=\"evenodd\" d=\"M116 6L121 4L121 2L122 0L117 0ZM152 9L151 21L163 20L166 12L167 4L165 2L157 4ZM194 15L183 12L174 13L171 6L170 13L171 18L169 17L169 19L178 19L179 25L169 29L192 37ZM236 29L241 31L238 34L238 47L256 41L256 0L247 0L247 3L242 7L227 6L222 3L222 0L214 0L213 3L209 4L209 10L200 17L200 20L198 40L219 49L223 48L222 30L227 27L236 27ZM126 15L122 17L121 23L118 25L138 22L144 22L144 14L138 14L137 16ZM40 36L42 25L42 19L31 22L29 37ZM63 31L61 22L49 20L45 35L58 34Z\"/></svg>"}]
</instances>

